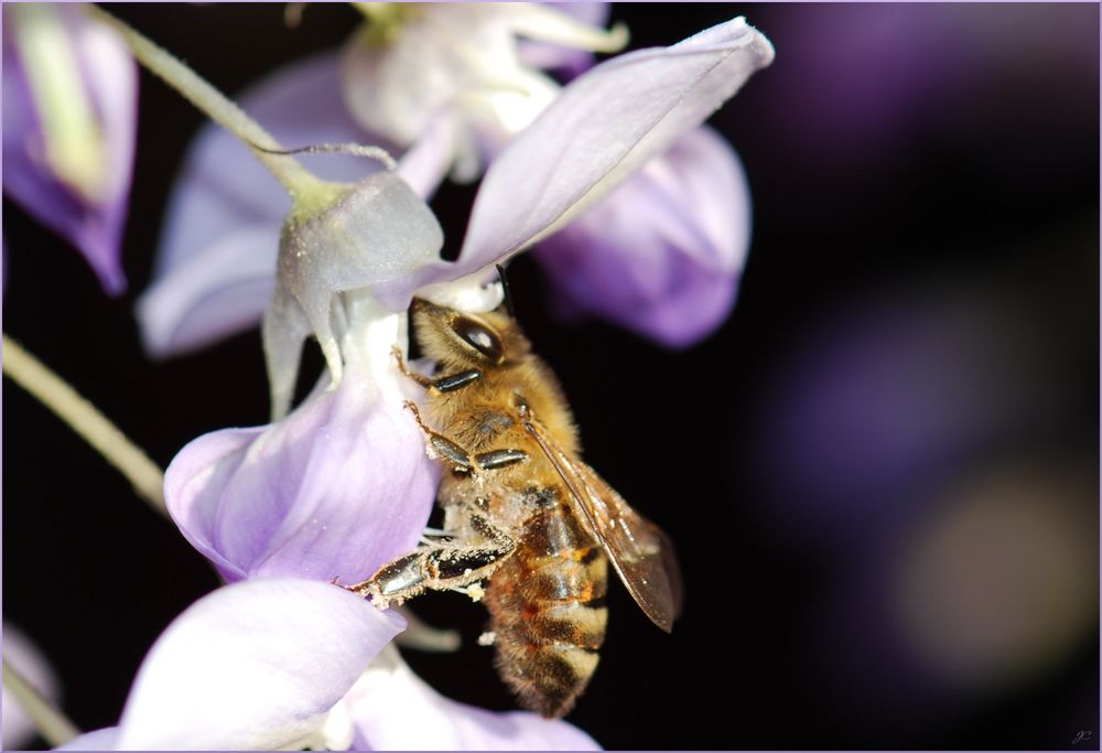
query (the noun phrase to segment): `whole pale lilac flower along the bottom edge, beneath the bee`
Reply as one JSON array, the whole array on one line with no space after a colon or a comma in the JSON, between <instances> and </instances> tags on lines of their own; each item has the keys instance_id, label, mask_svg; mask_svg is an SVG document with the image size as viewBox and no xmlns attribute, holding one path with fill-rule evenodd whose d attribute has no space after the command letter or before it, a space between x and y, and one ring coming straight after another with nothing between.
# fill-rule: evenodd
<instances>
[{"instance_id":1,"label":"whole pale lilac flower along the bottom edge, beneath the bee","mask_svg":"<svg viewBox=\"0 0 1102 753\"><path fill-rule=\"evenodd\" d=\"M118 727L62 750L596 747L565 722L441 698L387 647L403 626L327 583L227 585L158 638Z\"/></svg>"}]
</instances>

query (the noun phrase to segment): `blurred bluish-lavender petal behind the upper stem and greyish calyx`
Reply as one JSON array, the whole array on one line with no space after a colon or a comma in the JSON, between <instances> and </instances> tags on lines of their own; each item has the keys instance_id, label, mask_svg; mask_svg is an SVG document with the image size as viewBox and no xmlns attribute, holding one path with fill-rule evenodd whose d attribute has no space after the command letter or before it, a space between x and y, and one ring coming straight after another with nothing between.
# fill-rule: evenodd
<instances>
[{"instance_id":1,"label":"blurred bluish-lavender petal behind the upper stem and greyish calyx","mask_svg":"<svg viewBox=\"0 0 1102 753\"><path fill-rule=\"evenodd\" d=\"M341 98L337 58L282 68L251 87L241 106L288 148L363 141ZM328 180L378 170L363 158L304 158ZM188 151L170 200L154 281L138 304L147 349L168 356L259 323L271 301L279 234L291 200L249 150L207 126Z\"/></svg>"}]
</instances>

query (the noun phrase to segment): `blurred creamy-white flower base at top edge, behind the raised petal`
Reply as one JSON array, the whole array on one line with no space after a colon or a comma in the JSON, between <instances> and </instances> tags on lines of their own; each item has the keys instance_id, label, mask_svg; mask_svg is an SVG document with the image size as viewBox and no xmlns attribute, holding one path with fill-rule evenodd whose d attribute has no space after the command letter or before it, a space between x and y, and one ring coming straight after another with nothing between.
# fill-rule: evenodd
<instances>
[{"instance_id":1,"label":"blurred creamy-white flower base at top edge, behind the raised petal","mask_svg":"<svg viewBox=\"0 0 1102 753\"><path fill-rule=\"evenodd\" d=\"M366 8L369 20L342 62L349 111L401 147L430 133L445 139L441 174L451 168L461 181L475 179L558 94L553 79L521 60L520 37L601 52L627 42L622 26L606 32L538 3ZM430 128L434 121L442 125Z\"/></svg>"}]
</instances>

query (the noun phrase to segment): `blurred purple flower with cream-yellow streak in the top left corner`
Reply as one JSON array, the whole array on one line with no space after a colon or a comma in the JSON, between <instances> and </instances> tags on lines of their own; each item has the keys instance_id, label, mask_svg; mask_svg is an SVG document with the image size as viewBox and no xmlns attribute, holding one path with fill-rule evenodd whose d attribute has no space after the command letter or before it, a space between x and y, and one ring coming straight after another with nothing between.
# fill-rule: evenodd
<instances>
[{"instance_id":1,"label":"blurred purple flower with cream-yellow streak in the top left corner","mask_svg":"<svg viewBox=\"0 0 1102 753\"><path fill-rule=\"evenodd\" d=\"M79 7L4 6L4 193L75 245L112 294L126 287L137 93L126 45Z\"/></svg>"}]
</instances>

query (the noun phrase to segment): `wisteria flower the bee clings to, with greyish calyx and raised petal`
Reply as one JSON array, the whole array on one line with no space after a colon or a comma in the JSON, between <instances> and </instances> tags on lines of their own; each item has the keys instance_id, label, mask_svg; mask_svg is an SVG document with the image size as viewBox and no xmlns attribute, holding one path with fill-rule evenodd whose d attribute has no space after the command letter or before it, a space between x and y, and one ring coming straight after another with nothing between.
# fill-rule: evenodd
<instances>
[{"instance_id":1,"label":"wisteria flower the bee clings to, with greyish calyx and raised petal","mask_svg":"<svg viewBox=\"0 0 1102 753\"><path fill-rule=\"evenodd\" d=\"M290 407L300 349L311 334L327 373L274 423L206 434L176 456L165 499L184 536L228 580L246 585L273 575L356 582L412 549L439 473L403 409L411 386L392 357L395 348L406 349L406 309L414 293L465 310L496 305L500 290L484 284L494 263L568 222L694 129L769 55L768 42L736 19L577 78L493 162L454 262L439 256L443 236L432 213L390 170L350 186L334 184L321 208L292 209L264 314L274 417ZM410 698L430 692L400 668L388 673L359 690L379 698L368 691L390 677ZM378 713L375 702L347 708L354 722ZM456 730L477 729L477 720L505 731L534 723L523 713L511 721L467 716ZM505 736L501 744L518 743Z\"/></svg>"}]
</instances>

